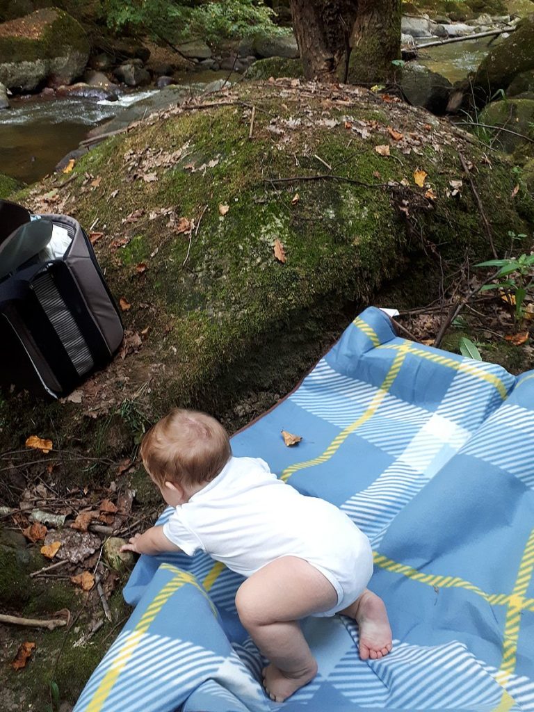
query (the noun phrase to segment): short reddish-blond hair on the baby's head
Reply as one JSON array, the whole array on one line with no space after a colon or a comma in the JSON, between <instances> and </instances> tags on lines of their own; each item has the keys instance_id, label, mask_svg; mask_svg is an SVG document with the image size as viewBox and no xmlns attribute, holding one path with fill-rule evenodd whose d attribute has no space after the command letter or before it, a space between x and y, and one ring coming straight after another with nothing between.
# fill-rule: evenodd
<instances>
[{"instance_id":1,"label":"short reddish-blond hair on the baby's head","mask_svg":"<svg viewBox=\"0 0 534 712\"><path fill-rule=\"evenodd\" d=\"M206 413L174 408L143 438L145 469L160 486L209 482L231 458L224 427Z\"/></svg>"}]
</instances>

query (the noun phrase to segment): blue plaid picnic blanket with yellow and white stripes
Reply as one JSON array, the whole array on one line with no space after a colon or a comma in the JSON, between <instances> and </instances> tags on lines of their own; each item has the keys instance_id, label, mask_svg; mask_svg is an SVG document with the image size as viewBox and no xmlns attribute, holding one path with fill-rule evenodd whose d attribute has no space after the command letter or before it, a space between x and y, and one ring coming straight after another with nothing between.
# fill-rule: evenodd
<instances>
[{"instance_id":1,"label":"blue plaid picnic blanket with yellow and white stripes","mask_svg":"<svg viewBox=\"0 0 534 712\"><path fill-rule=\"evenodd\" d=\"M534 371L399 338L369 308L231 444L365 531L393 651L361 661L354 622L306 619L318 676L272 703L242 578L201 553L142 556L135 610L75 712L534 710Z\"/></svg>"}]
</instances>

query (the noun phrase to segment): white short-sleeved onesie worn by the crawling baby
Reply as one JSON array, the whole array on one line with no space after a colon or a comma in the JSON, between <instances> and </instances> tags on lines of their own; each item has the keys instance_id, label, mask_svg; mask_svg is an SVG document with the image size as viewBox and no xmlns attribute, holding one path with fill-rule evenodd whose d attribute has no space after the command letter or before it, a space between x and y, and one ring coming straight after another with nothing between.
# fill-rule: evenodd
<instances>
[{"instance_id":1,"label":"white short-sleeved onesie worn by the crawling baby","mask_svg":"<svg viewBox=\"0 0 534 712\"><path fill-rule=\"evenodd\" d=\"M184 553L201 550L243 576L282 556L315 566L337 592L333 615L363 592L372 575L364 533L336 506L300 494L265 461L232 457L189 502L175 508L163 533Z\"/></svg>"}]
</instances>

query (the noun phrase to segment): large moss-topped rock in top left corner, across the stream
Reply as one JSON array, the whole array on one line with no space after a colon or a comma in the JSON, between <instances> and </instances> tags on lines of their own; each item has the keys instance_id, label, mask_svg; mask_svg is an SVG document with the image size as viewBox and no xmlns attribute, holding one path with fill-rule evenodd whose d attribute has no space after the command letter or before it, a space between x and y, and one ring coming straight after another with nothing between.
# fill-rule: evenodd
<instances>
[{"instance_id":1,"label":"large moss-topped rock in top left corner, across the stream","mask_svg":"<svg viewBox=\"0 0 534 712\"><path fill-rule=\"evenodd\" d=\"M0 82L11 90L33 91L46 80L70 84L88 57L85 31L63 10L37 10L0 25Z\"/></svg>"}]
</instances>

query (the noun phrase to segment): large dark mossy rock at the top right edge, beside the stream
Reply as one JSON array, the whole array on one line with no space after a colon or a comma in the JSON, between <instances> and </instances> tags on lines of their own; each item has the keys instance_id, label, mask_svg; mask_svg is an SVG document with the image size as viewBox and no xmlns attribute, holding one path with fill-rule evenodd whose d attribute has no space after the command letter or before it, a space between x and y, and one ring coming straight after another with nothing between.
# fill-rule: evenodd
<instances>
[{"instance_id":1,"label":"large dark mossy rock at the top right edge, beside the stream","mask_svg":"<svg viewBox=\"0 0 534 712\"><path fill-rule=\"evenodd\" d=\"M511 85L515 75L534 69L533 47L534 14L521 20L515 32L495 46L476 70L471 85L479 105Z\"/></svg>"}]
</instances>

